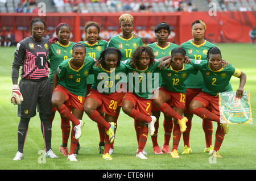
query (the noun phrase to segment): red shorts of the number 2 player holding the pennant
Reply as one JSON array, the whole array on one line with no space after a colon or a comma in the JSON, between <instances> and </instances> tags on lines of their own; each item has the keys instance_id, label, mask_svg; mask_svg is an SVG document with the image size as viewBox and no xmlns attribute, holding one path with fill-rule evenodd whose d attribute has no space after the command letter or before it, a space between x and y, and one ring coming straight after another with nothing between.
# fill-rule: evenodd
<instances>
[{"instance_id":1,"label":"red shorts of the number 2 player holding the pennant","mask_svg":"<svg viewBox=\"0 0 256 181\"><path fill-rule=\"evenodd\" d=\"M193 100L197 100L204 105L204 108L209 108L211 112L220 115L220 108L218 107L218 96L210 95L205 92L200 92Z\"/></svg>"}]
</instances>

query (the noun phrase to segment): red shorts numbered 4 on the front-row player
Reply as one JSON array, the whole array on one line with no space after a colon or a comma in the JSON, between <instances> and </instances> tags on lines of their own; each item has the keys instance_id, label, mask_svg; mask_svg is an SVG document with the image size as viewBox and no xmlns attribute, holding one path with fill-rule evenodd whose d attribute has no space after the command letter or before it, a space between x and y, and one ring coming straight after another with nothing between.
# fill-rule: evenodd
<instances>
[{"instance_id":1,"label":"red shorts numbered 4 on the front-row player","mask_svg":"<svg viewBox=\"0 0 256 181\"><path fill-rule=\"evenodd\" d=\"M71 110L71 108L76 108L77 110L84 111L85 97L72 94L67 89L65 89L65 87L60 85L56 86L54 91L60 91L65 95L67 100L65 102L65 106L67 106L69 110Z\"/></svg>"}]
</instances>

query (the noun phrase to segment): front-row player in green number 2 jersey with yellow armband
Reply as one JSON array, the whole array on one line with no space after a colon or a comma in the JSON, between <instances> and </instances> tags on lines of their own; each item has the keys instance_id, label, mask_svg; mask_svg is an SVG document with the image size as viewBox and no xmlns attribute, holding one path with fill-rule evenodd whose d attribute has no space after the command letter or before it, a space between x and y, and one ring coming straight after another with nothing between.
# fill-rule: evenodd
<instances>
[{"instance_id":1,"label":"front-row player in green number 2 jersey with yellow armband","mask_svg":"<svg viewBox=\"0 0 256 181\"><path fill-rule=\"evenodd\" d=\"M232 86L229 81L233 75L240 78L240 85L237 89L237 98L240 99L243 95L246 74L234 68L231 64L224 66L221 51L217 47L212 47L208 50L207 60L193 60L191 64L201 71L204 81L202 92L193 98L189 109L192 113L203 118L205 121L211 120L217 122L212 155L216 158L222 158L218 150L224 140L225 134L228 133L228 124L220 123L218 93L232 91Z\"/></svg>"}]
</instances>

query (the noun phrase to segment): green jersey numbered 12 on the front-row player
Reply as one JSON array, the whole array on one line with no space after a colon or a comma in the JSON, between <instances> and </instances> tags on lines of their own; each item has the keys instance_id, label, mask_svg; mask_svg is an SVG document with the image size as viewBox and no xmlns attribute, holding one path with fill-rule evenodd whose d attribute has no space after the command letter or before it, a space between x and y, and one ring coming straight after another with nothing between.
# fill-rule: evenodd
<instances>
[{"instance_id":1,"label":"green jersey numbered 12 on the front-row player","mask_svg":"<svg viewBox=\"0 0 256 181\"><path fill-rule=\"evenodd\" d=\"M160 70L162 75L161 86L171 92L186 93L187 86L185 85L185 80L191 73L197 74L197 71L198 70L191 64L183 64L181 70L174 70L172 66L168 69L162 69Z\"/></svg>"}]
</instances>

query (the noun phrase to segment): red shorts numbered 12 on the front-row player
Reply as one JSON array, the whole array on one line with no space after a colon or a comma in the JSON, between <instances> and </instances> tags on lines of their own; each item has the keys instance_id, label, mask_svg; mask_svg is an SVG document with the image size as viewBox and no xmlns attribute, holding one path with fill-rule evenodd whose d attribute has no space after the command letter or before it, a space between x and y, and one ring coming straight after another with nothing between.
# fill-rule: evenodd
<instances>
[{"instance_id":1,"label":"red shorts numbered 12 on the front-row player","mask_svg":"<svg viewBox=\"0 0 256 181\"><path fill-rule=\"evenodd\" d=\"M164 87L160 87L159 90L163 91L169 96L170 100L168 101L168 104L171 107L181 108L183 110L185 109L186 94L181 92L171 92L164 89Z\"/></svg>"}]
</instances>

